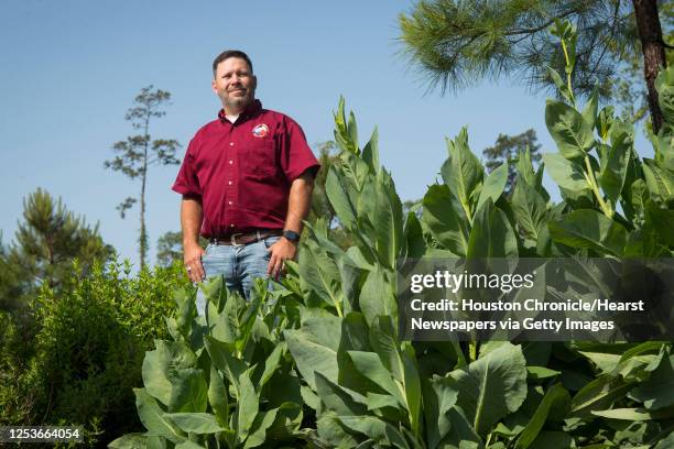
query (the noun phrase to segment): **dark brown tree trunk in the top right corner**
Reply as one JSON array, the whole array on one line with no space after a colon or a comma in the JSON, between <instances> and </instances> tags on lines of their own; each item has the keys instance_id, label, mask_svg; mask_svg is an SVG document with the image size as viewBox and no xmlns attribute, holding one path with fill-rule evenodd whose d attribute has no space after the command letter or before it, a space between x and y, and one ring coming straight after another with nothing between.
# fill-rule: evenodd
<instances>
[{"instance_id":1,"label":"dark brown tree trunk in the top right corner","mask_svg":"<svg viewBox=\"0 0 674 449\"><path fill-rule=\"evenodd\" d=\"M643 52L643 75L649 90L649 109L653 132L657 134L662 127L662 111L657 103L657 90L655 90L655 78L661 68L666 67L664 42L662 40L662 28L657 15L656 0L632 0L634 3L634 15L639 39Z\"/></svg>"}]
</instances>

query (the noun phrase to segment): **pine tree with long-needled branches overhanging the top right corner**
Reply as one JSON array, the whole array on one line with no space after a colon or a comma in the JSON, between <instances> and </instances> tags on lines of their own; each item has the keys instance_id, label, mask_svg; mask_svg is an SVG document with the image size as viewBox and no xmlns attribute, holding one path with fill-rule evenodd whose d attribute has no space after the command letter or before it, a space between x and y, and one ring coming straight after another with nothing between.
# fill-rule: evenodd
<instances>
[{"instance_id":1,"label":"pine tree with long-needled branches overhanging the top right corner","mask_svg":"<svg viewBox=\"0 0 674 449\"><path fill-rule=\"evenodd\" d=\"M671 14L672 9L663 12ZM572 76L581 94L599 85L602 97L610 95L620 74L617 67L626 59L640 61L657 132L662 112L654 81L667 65L665 48L672 46L663 40L656 0L421 0L400 15L399 24L411 63L443 92L501 76L554 91L547 67L563 73L565 66L548 33L555 20L569 20L577 28Z\"/></svg>"}]
</instances>

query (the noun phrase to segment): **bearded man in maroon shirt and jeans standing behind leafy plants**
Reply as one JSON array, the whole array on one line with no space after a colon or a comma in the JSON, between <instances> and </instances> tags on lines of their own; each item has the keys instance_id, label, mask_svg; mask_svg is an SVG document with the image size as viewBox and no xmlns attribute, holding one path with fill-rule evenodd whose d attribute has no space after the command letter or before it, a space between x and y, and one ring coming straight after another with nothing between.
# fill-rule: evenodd
<instances>
[{"instance_id":1,"label":"bearded man in maroon shirt and jeans standing behind leafy plants","mask_svg":"<svg viewBox=\"0 0 674 449\"><path fill-rule=\"evenodd\" d=\"M184 262L193 282L224 274L248 297L254 277L278 277L295 258L318 162L300 125L256 99L248 55L222 52L213 74L222 109L189 142L173 185L183 195Z\"/></svg>"}]
</instances>

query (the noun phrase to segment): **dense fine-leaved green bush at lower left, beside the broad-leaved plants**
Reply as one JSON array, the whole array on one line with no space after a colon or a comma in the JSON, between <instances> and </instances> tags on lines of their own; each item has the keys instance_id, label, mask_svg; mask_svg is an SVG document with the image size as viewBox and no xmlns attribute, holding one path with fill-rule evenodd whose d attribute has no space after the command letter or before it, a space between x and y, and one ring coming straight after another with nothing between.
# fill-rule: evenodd
<instances>
[{"instance_id":1,"label":"dense fine-leaved green bush at lower left, beside the broad-leaved plants","mask_svg":"<svg viewBox=\"0 0 674 449\"><path fill-rule=\"evenodd\" d=\"M180 264L130 273L128 262L97 264L87 275L75 265L62 293L43 288L34 339L19 347L33 355L4 363L13 381L0 388L3 423L83 425L90 443L140 425L131 388L141 384L144 351L168 336L172 292L187 280ZM8 359L18 352L12 340L3 339Z\"/></svg>"}]
</instances>

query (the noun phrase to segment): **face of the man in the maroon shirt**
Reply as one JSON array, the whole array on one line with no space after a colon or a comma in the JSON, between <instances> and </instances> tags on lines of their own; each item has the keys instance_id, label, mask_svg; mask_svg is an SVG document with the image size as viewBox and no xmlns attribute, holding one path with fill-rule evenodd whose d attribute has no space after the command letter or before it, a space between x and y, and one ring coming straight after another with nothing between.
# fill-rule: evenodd
<instances>
[{"instance_id":1,"label":"face of the man in the maroon shirt","mask_svg":"<svg viewBox=\"0 0 674 449\"><path fill-rule=\"evenodd\" d=\"M256 98L258 79L244 59L229 57L218 64L213 90L222 100L226 112L240 112Z\"/></svg>"}]
</instances>

